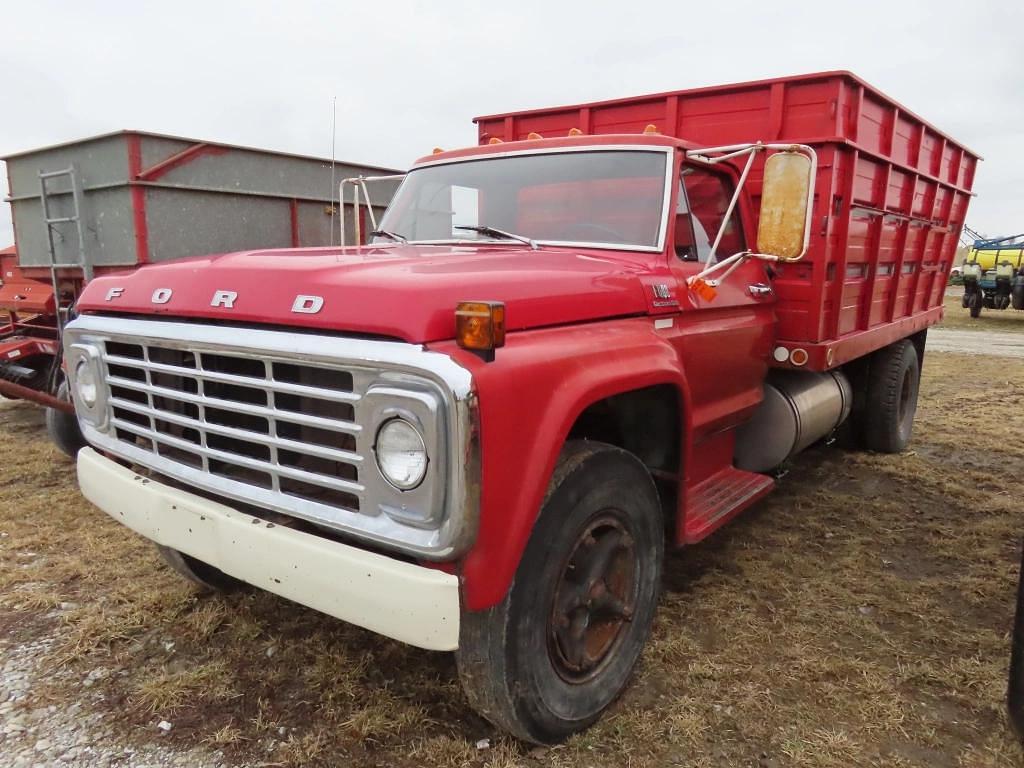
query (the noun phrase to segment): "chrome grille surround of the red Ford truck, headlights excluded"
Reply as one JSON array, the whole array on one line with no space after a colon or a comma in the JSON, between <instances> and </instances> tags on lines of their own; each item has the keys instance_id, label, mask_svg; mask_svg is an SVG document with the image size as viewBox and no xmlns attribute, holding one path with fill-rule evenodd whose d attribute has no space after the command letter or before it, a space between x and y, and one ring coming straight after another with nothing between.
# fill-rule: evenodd
<instances>
[{"instance_id":1,"label":"chrome grille surround of the red Ford truck, headlights excluded","mask_svg":"<svg viewBox=\"0 0 1024 768\"><path fill-rule=\"evenodd\" d=\"M421 346L83 315L65 334L104 382L79 423L95 447L226 499L400 552L446 559L476 534L479 457L468 371ZM429 468L401 492L377 469L400 416Z\"/></svg>"}]
</instances>

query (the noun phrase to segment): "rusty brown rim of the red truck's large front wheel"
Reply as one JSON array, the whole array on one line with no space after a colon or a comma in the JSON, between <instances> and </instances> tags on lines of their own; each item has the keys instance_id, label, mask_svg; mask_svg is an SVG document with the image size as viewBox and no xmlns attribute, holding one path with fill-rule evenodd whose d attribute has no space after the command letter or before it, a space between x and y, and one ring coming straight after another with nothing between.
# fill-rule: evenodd
<instances>
[{"instance_id":1,"label":"rusty brown rim of the red truck's large front wheel","mask_svg":"<svg viewBox=\"0 0 1024 768\"><path fill-rule=\"evenodd\" d=\"M632 535L614 511L591 519L565 559L548 623L548 655L572 684L598 676L629 632L640 567Z\"/></svg>"}]
</instances>

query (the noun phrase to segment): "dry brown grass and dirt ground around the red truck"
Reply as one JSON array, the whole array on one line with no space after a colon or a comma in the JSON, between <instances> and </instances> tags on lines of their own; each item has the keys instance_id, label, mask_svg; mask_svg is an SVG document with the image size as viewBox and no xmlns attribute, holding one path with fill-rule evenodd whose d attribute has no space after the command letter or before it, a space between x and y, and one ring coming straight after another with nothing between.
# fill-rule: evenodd
<instances>
[{"instance_id":1,"label":"dry brown grass and dirt ground around the red truck","mask_svg":"<svg viewBox=\"0 0 1024 768\"><path fill-rule=\"evenodd\" d=\"M812 450L672 555L633 684L545 750L469 710L451 654L198 594L82 500L40 411L0 403L0 716L33 729L0 730L0 762L57 764L56 723L75 765L1020 765L1022 431L1024 359L930 354L911 450Z\"/></svg>"}]
</instances>

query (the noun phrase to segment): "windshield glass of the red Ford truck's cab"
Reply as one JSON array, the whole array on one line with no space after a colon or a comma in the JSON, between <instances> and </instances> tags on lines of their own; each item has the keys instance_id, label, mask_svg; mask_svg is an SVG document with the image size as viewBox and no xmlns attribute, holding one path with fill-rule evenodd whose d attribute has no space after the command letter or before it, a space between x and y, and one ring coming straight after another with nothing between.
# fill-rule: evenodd
<instances>
[{"instance_id":1,"label":"windshield glass of the red Ford truck's cab","mask_svg":"<svg viewBox=\"0 0 1024 768\"><path fill-rule=\"evenodd\" d=\"M512 155L414 168L380 228L410 242L657 248L669 153ZM503 230L498 232L496 230Z\"/></svg>"}]
</instances>

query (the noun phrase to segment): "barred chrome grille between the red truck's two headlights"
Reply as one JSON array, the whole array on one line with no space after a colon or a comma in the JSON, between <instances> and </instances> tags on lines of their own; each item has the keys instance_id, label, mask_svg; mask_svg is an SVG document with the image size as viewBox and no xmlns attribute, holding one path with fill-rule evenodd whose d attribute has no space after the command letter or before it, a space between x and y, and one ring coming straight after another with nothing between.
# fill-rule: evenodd
<instances>
[{"instance_id":1,"label":"barred chrome grille between the red truck's two headlights","mask_svg":"<svg viewBox=\"0 0 1024 768\"><path fill-rule=\"evenodd\" d=\"M295 500L360 511L360 378L153 342L102 344L119 441Z\"/></svg>"}]
</instances>

